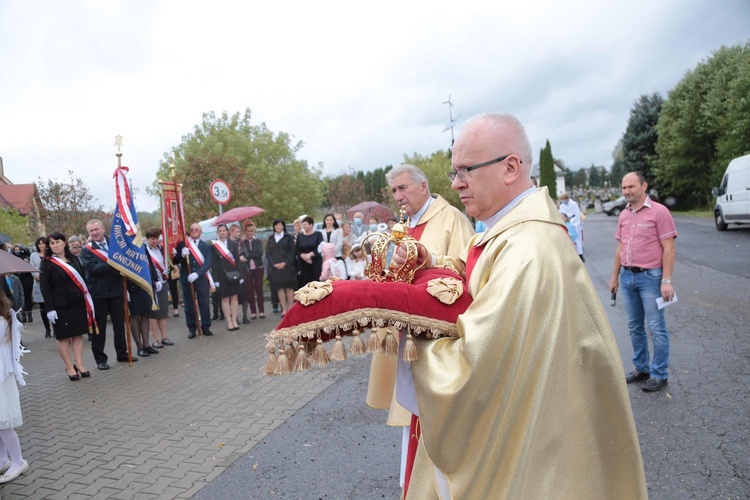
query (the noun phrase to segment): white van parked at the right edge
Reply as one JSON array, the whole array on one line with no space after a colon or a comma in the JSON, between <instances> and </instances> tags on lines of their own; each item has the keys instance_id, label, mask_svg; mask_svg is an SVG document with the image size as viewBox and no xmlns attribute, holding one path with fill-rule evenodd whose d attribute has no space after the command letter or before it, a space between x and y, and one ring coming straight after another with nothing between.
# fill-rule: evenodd
<instances>
[{"instance_id":1,"label":"white van parked at the right edge","mask_svg":"<svg viewBox=\"0 0 750 500\"><path fill-rule=\"evenodd\" d=\"M750 155L730 161L721 186L711 193L716 197L716 229L724 231L729 224L750 224Z\"/></svg>"}]
</instances>

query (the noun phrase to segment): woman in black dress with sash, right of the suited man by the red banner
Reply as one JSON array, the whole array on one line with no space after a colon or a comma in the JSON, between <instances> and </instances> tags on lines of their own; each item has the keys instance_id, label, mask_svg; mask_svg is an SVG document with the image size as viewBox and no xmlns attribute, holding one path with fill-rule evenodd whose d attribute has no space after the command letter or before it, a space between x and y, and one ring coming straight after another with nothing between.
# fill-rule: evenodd
<instances>
[{"instance_id":1,"label":"woman in black dress with sash, right of the suited man by the red banner","mask_svg":"<svg viewBox=\"0 0 750 500\"><path fill-rule=\"evenodd\" d=\"M244 281L240 274L239 245L236 241L229 239L229 230L226 224L219 224L216 228L219 239L213 244L213 257L211 258L211 274L214 283L218 287L216 293L221 296L221 309L227 319L227 329L230 332L239 330L237 324L237 309L239 302L237 294L240 293L240 281Z\"/></svg>"}]
</instances>

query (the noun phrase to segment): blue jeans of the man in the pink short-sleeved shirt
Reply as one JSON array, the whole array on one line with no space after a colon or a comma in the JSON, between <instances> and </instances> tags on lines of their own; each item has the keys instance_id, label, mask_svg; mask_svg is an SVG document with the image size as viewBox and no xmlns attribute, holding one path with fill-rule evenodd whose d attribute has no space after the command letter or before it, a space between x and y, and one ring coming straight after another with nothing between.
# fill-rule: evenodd
<instances>
[{"instance_id":1,"label":"blue jeans of the man in the pink short-sleeved shirt","mask_svg":"<svg viewBox=\"0 0 750 500\"><path fill-rule=\"evenodd\" d=\"M633 343L633 364L641 373L664 380L669 367L669 332L664 309L656 307L661 297L662 270L649 269L642 273L620 270L620 294L628 315L628 329ZM650 359L645 323L654 342L654 357Z\"/></svg>"}]
</instances>

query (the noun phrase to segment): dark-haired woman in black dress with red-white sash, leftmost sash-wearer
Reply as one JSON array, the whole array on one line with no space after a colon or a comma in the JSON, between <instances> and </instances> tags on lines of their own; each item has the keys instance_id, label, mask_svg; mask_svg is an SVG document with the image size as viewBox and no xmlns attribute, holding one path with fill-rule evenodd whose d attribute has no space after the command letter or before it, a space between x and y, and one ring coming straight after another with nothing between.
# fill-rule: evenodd
<instances>
[{"instance_id":1,"label":"dark-haired woman in black dress with red-white sash, leftmost sash-wearer","mask_svg":"<svg viewBox=\"0 0 750 500\"><path fill-rule=\"evenodd\" d=\"M39 266L39 286L44 297L47 317L55 330L57 352L65 363L70 380L90 377L83 366L84 333L93 333L93 303L83 281L83 268L68 249L68 240L60 232L47 236L44 260ZM73 359L70 361L70 353Z\"/></svg>"}]
</instances>

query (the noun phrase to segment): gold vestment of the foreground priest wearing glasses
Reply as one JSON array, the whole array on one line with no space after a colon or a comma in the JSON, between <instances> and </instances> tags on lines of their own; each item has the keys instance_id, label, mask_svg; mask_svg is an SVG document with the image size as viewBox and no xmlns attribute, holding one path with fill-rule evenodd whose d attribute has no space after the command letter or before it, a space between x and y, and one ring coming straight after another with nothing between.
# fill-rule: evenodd
<instances>
[{"instance_id":1,"label":"gold vestment of the foreground priest wearing glasses","mask_svg":"<svg viewBox=\"0 0 750 500\"><path fill-rule=\"evenodd\" d=\"M546 188L472 245L457 339L419 340L408 498L647 498L612 329Z\"/></svg>"}]
</instances>

